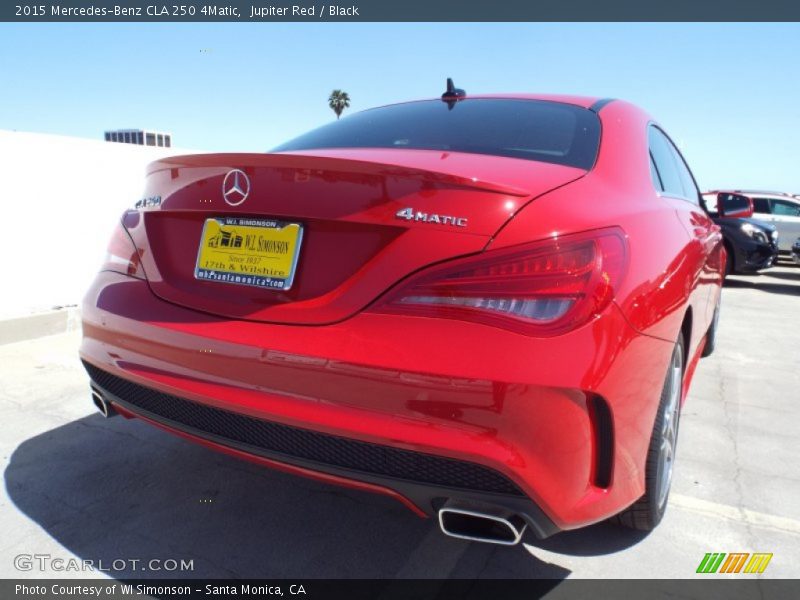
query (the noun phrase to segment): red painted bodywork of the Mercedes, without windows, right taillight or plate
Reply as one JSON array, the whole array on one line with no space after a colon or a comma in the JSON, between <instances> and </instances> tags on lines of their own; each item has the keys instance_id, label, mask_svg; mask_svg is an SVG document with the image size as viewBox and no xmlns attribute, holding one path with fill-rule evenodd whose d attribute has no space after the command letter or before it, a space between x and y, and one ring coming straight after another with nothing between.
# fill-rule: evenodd
<instances>
[{"instance_id":1,"label":"red painted bodywork of the Mercedes, without windows, right taillight or plate","mask_svg":"<svg viewBox=\"0 0 800 600\"><path fill-rule=\"evenodd\" d=\"M562 528L602 520L643 492L672 346L691 311L688 389L724 255L698 206L655 192L649 117L624 102L600 117L600 155L589 172L408 150L154 163L146 195L162 205L124 219L148 280L98 275L83 304L81 355L197 402L484 464ZM253 197L239 207L221 194L232 168L252 180ZM465 216L468 226L397 220L407 206ZM220 215L302 222L296 286L282 293L195 280L202 222ZM626 271L613 302L577 329L537 337L369 310L434 263L608 227L624 233ZM607 489L591 483L590 393L606 399L614 419Z\"/></svg>"}]
</instances>

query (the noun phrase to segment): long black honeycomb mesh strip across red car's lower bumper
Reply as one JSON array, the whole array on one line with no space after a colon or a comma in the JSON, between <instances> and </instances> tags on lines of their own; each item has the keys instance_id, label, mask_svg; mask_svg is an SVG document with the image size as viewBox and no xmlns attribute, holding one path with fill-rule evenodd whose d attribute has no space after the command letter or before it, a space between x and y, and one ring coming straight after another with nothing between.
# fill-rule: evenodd
<instances>
[{"instance_id":1,"label":"long black honeycomb mesh strip across red car's lower bumper","mask_svg":"<svg viewBox=\"0 0 800 600\"><path fill-rule=\"evenodd\" d=\"M200 437L228 441L253 454L308 461L323 471L328 466L447 488L524 495L505 476L481 465L272 423L164 394L88 363L84 366L98 387L134 412Z\"/></svg>"}]
</instances>

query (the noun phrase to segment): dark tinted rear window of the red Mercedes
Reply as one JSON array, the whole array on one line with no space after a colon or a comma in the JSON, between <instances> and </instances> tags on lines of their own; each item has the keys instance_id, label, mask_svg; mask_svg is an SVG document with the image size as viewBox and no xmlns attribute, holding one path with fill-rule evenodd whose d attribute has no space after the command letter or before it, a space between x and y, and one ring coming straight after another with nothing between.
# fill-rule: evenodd
<instances>
[{"instance_id":1,"label":"dark tinted rear window of the red Mercedes","mask_svg":"<svg viewBox=\"0 0 800 600\"><path fill-rule=\"evenodd\" d=\"M600 120L590 110L541 100L426 100L373 108L335 121L273 152L322 148L408 148L491 154L589 170Z\"/></svg>"}]
</instances>

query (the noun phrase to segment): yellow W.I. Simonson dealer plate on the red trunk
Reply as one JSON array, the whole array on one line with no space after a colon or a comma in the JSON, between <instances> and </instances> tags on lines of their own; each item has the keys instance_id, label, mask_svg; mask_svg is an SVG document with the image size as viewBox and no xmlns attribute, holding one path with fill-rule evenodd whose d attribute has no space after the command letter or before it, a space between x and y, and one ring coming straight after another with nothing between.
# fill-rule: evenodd
<instances>
[{"instance_id":1,"label":"yellow W.I. Simonson dealer plate on the red trunk","mask_svg":"<svg viewBox=\"0 0 800 600\"><path fill-rule=\"evenodd\" d=\"M270 219L206 219L194 276L288 290L294 280L303 226Z\"/></svg>"}]
</instances>

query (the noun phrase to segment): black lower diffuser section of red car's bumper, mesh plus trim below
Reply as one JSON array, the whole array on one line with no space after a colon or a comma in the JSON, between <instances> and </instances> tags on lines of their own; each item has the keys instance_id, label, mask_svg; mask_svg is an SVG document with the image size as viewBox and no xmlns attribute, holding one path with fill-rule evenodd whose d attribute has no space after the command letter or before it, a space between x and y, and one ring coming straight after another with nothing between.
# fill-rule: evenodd
<instances>
[{"instance_id":1,"label":"black lower diffuser section of red car's bumper, mesh plus trim below","mask_svg":"<svg viewBox=\"0 0 800 600\"><path fill-rule=\"evenodd\" d=\"M476 465L253 419L194 403L84 363L92 388L126 417L266 466L389 495L419 516L446 500L501 507L522 516L539 538L555 524L503 475Z\"/></svg>"}]
</instances>

